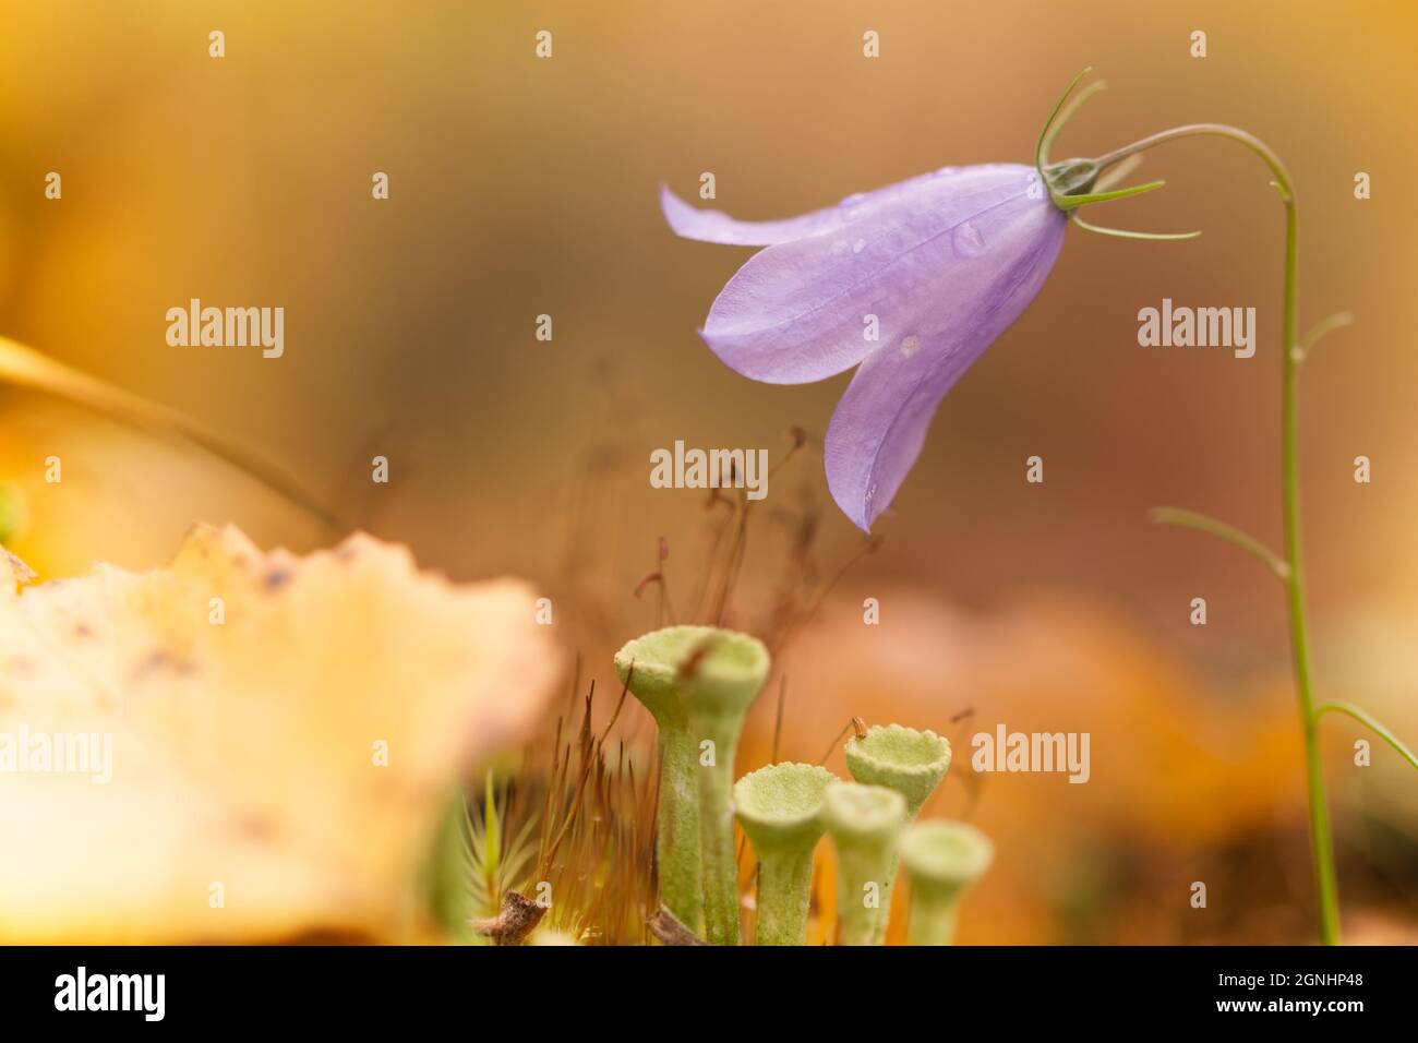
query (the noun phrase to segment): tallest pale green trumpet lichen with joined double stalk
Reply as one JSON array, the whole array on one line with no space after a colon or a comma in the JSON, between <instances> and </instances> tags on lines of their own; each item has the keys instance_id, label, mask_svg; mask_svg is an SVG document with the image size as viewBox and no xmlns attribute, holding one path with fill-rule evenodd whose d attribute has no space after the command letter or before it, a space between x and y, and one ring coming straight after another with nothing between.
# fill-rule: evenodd
<instances>
[{"instance_id":1,"label":"tallest pale green trumpet lichen with joined double stalk","mask_svg":"<svg viewBox=\"0 0 1418 1043\"><path fill-rule=\"evenodd\" d=\"M615 653L617 674L659 729L661 900L718 945L739 942L733 758L770 663L757 639L705 626L655 630Z\"/></svg>"}]
</instances>

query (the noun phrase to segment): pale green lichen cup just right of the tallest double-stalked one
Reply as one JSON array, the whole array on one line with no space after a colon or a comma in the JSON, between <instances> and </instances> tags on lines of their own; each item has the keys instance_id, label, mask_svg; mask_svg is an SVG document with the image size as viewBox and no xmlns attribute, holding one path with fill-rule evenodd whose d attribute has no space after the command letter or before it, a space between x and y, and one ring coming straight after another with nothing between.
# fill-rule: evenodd
<instances>
[{"instance_id":1,"label":"pale green lichen cup just right of the tallest double-stalked one","mask_svg":"<svg viewBox=\"0 0 1418 1043\"><path fill-rule=\"evenodd\" d=\"M813 850L822 836L825 768L774 763L733 785L733 806L759 857L757 945L805 945Z\"/></svg>"}]
</instances>

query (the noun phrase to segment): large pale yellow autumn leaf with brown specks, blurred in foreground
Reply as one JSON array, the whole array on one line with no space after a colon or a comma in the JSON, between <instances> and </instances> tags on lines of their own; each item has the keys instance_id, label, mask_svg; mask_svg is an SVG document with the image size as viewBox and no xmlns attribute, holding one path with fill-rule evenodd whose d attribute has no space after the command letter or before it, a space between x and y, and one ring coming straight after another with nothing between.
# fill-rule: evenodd
<instances>
[{"instance_id":1,"label":"large pale yellow autumn leaf with brown specks, blurred in foreground","mask_svg":"<svg viewBox=\"0 0 1418 1043\"><path fill-rule=\"evenodd\" d=\"M26 579L0 556L0 942L423 937L450 788L559 671L525 585L369 536Z\"/></svg>"}]
</instances>

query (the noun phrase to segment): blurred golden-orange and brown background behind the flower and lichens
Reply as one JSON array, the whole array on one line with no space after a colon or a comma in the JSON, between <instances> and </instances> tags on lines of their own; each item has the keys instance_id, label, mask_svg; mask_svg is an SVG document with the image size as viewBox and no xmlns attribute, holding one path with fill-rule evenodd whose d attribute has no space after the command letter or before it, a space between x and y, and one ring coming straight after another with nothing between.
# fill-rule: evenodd
<instances>
[{"instance_id":1,"label":"blurred golden-orange and brown background behind the flower and lichens","mask_svg":"<svg viewBox=\"0 0 1418 1043\"><path fill-rule=\"evenodd\" d=\"M821 434L848 379L754 385L713 358L695 329L749 253L676 240L659 183L692 197L713 172L715 206L781 217L943 165L1027 162L1083 65L1112 87L1058 156L1181 122L1252 131L1297 186L1302 328L1356 315L1303 372L1320 694L1418 735L1411 4L3 0L0 17L0 335L201 419L421 563L537 582L603 680L655 622L631 592L657 538L672 595L705 548L703 495L652 490L649 451L778 454L791 426ZM533 55L542 28L550 60ZM389 200L370 197L374 172ZM783 658L787 756L815 759L851 714L956 738L970 708L961 769L968 734L997 721L1093 734L1089 785L997 776L974 795L1000 857L964 941L1312 932L1280 592L1232 549L1146 519L1184 505L1280 542L1280 207L1225 142L1167 146L1141 173L1167 189L1103 223L1202 237L1071 231L1039 299L942 406L882 546ZM170 348L164 312L193 297L284 307L285 356ZM1139 348L1137 309L1164 297L1255 307L1256 356ZM162 563L194 521L328 541L194 448L0 394L10 545L44 576ZM389 485L369 481L376 454ZM1032 454L1042 485L1024 481ZM800 456L750 542L744 626L788 553L770 519L804 502L824 580L861 545L820 458ZM1197 596L1205 627L1187 622ZM743 769L769 755L767 702ZM1377 742L1356 768L1358 732L1326 729L1350 935L1411 941L1418 785ZM963 815L966 789L936 809ZM1215 881L1208 910L1187 904L1194 880Z\"/></svg>"}]
</instances>

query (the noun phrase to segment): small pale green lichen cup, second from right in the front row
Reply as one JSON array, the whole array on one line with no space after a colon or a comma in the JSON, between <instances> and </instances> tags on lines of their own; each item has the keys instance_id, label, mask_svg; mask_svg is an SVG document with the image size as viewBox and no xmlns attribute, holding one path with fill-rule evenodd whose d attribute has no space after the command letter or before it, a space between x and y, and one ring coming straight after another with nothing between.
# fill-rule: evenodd
<instances>
[{"instance_id":1,"label":"small pale green lichen cup, second from right in the front row","mask_svg":"<svg viewBox=\"0 0 1418 1043\"><path fill-rule=\"evenodd\" d=\"M822 822L837 847L838 945L881 945L878 912L896 871L906 798L885 786L834 782L822 793Z\"/></svg>"}]
</instances>

